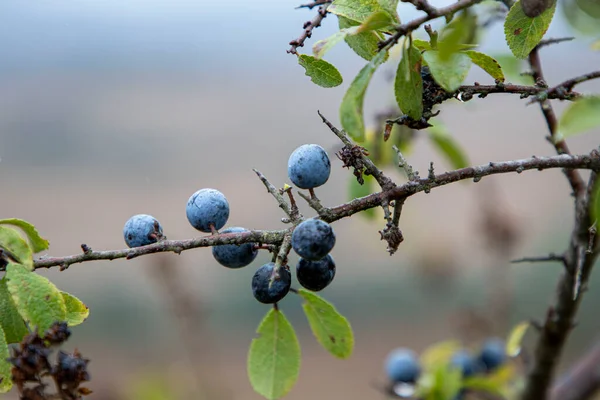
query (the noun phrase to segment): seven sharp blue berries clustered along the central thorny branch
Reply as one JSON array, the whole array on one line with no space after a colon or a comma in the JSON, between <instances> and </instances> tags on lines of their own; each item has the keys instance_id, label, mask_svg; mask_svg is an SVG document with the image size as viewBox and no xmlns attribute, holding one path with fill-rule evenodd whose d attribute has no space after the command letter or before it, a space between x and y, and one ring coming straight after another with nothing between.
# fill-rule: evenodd
<instances>
[{"instance_id":1,"label":"seven sharp blue berries clustered along the central thorny branch","mask_svg":"<svg viewBox=\"0 0 600 400\"><path fill-rule=\"evenodd\" d=\"M327 182L331 163L327 152L318 145L306 144L298 147L288 161L288 176L301 189L314 189ZM217 233L229 219L229 203L215 189L201 189L188 200L186 215L190 224L205 233ZM241 227L230 227L221 233L248 231ZM163 229L151 215L138 214L131 217L123 228L127 246L139 247L164 240ZM300 285L312 291L323 290L335 276L335 262L329 252L335 245L335 233L331 226L320 219L308 219L299 223L292 233L291 244L301 257L296 267ZM227 268L242 268L254 261L258 255L257 243L228 244L214 246L215 260ZM276 268L275 262L267 263L256 271L252 278L252 292L261 303L276 303L290 290L291 273L287 265Z\"/></svg>"}]
</instances>

